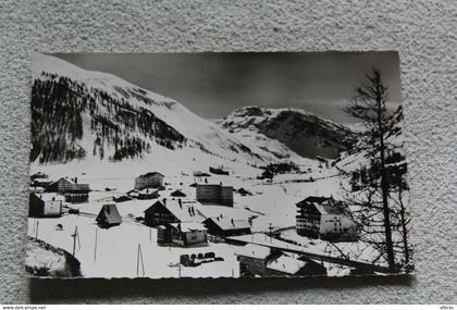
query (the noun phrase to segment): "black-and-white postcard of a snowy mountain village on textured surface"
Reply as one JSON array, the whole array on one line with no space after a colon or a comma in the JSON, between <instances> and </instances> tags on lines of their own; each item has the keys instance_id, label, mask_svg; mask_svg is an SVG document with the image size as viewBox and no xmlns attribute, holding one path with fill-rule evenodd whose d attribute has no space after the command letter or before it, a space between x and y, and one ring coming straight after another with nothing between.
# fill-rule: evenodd
<instances>
[{"instance_id":1,"label":"black-and-white postcard of a snowy mountain village on textured surface","mask_svg":"<svg viewBox=\"0 0 457 310\"><path fill-rule=\"evenodd\" d=\"M33 277L415 273L398 53L35 53Z\"/></svg>"}]
</instances>

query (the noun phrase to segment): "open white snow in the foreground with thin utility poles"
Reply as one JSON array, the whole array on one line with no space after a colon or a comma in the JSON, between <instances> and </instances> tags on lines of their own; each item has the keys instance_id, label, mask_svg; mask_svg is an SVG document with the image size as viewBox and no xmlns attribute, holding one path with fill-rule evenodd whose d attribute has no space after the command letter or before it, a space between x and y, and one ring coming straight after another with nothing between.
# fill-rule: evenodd
<instances>
[{"instance_id":1,"label":"open white snow in the foreground with thin utility poles","mask_svg":"<svg viewBox=\"0 0 457 310\"><path fill-rule=\"evenodd\" d=\"M29 219L28 235L35 236L38 221L38 239L54 247L73 252L77 227L75 257L81 262L84 277L237 277L239 266L234 256L234 246L212 244L203 247L180 248L157 245L157 231L143 224L123 221L120 226L101 230L95 218L66 214L60 219ZM55 231L61 224L62 231ZM97 238L96 238L97 236ZM96 248L97 239L97 248ZM141 262L137 273L138 245L141 248ZM177 268L181 255L206 253L212 251L224 261L203 263L195 268Z\"/></svg>"}]
</instances>

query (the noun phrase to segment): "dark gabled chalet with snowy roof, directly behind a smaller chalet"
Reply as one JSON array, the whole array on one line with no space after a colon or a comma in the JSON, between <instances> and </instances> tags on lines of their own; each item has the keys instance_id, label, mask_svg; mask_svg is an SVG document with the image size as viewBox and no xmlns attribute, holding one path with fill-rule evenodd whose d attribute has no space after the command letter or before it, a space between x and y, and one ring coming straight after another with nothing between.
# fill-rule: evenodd
<instances>
[{"instance_id":1,"label":"dark gabled chalet with snowy roof, directly behind a smaller chalet","mask_svg":"<svg viewBox=\"0 0 457 310\"><path fill-rule=\"evenodd\" d=\"M201 223L203 220L194 201L162 199L145 210L145 223L152 227L171 223Z\"/></svg>"}]
</instances>

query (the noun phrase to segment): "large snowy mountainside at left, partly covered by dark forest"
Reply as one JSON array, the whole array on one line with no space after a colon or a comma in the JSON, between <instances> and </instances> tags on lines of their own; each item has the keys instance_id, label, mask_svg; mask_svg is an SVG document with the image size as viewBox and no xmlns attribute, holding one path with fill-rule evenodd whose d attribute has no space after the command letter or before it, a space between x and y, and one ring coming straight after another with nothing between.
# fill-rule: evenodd
<instances>
[{"instance_id":1,"label":"large snowy mountainside at left, partly covered by dark forest","mask_svg":"<svg viewBox=\"0 0 457 310\"><path fill-rule=\"evenodd\" d=\"M180 102L114 75L45 54L36 54L32 72L32 162L121 161L157 148L199 149L231 161L275 160Z\"/></svg>"}]
</instances>

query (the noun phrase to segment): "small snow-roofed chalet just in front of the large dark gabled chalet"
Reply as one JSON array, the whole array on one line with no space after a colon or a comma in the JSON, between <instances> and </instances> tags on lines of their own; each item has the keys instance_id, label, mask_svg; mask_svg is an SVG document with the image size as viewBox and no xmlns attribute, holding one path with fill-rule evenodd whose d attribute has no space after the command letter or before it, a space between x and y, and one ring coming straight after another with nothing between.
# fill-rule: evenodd
<instances>
[{"instance_id":1,"label":"small snow-roofed chalet just in front of the large dark gabled chalet","mask_svg":"<svg viewBox=\"0 0 457 310\"><path fill-rule=\"evenodd\" d=\"M199 244L207 244L207 228L196 222L171 223L157 226L157 241L161 245L176 245L187 247Z\"/></svg>"}]
</instances>

